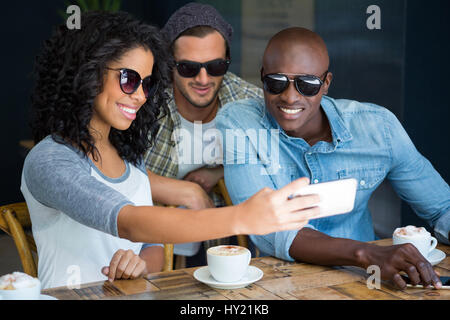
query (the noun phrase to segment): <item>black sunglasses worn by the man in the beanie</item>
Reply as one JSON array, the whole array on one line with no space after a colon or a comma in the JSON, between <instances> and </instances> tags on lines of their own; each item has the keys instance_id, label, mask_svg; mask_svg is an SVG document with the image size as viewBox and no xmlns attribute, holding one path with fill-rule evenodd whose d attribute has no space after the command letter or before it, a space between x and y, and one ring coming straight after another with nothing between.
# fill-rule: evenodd
<instances>
[{"instance_id":1,"label":"black sunglasses worn by the man in the beanie","mask_svg":"<svg viewBox=\"0 0 450 320\"><path fill-rule=\"evenodd\" d=\"M212 77L223 76L228 71L230 60L215 59L205 63L182 60L176 63L178 73L184 78L196 77L202 68Z\"/></svg>"}]
</instances>

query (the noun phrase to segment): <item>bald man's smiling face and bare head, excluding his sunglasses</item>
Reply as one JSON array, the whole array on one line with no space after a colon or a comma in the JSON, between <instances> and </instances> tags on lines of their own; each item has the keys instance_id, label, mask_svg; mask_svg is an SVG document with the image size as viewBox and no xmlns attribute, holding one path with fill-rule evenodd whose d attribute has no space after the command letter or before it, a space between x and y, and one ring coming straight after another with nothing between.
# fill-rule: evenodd
<instances>
[{"instance_id":1,"label":"bald man's smiling face and bare head, excluding his sunglasses","mask_svg":"<svg viewBox=\"0 0 450 320\"><path fill-rule=\"evenodd\" d=\"M294 78L291 75L314 75L324 80L329 63L326 48L324 50L320 42L320 45L317 44L317 39L306 39L301 32L300 36L296 34L295 30L274 36L264 53L263 75L289 74L290 79ZM328 73L319 93L312 97L301 95L293 82L280 94L264 91L269 113L288 135L307 141L323 136L326 116L320 108L320 102L323 94L328 92L331 78L331 73Z\"/></svg>"}]
</instances>

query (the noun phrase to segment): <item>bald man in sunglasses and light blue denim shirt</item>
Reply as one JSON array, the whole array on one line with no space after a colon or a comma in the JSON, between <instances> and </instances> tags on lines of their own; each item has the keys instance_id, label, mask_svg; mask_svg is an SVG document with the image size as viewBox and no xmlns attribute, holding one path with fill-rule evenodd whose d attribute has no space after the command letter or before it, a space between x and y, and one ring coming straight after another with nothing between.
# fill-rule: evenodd
<instances>
[{"instance_id":1,"label":"bald man in sunglasses and light blue denim shirt","mask_svg":"<svg viewBox=\"0 0 450 320\"><path fill-rule=\"evenodd\" d=\"M328 68L326 45L310 30L289 28L269 41L261 68L264 100L230 103L217 116L217 126L227 137L225 181L237 204L264 187L279 189L299 177L311 183L355 178L354 210L312 220L301 230L250 238L262 252L285 260L365 269L377 265L382 279L400 288L406 286L401 271L413 284L440 287L432 265L414 246L367 243L376 240L368 201L387 178L439 241L449 244L448 184L389 110L326 96L333 78ZM245 149L232 148L236 129L267 130L267 140L278 139L279 148L260 148L250 136Z\"/></svg>"}]
</instances>

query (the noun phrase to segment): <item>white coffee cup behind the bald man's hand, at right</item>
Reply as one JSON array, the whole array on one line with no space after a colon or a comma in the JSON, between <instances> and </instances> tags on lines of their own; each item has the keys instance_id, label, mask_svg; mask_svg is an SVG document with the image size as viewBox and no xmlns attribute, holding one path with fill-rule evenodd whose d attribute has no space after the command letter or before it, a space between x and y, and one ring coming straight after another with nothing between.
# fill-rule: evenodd
<instances>
[{"instance_id":1,"label":"white coffee cup behind the bald man's hand, at right","mask_svg":"<svg viewBox=\"0 0 450 320\"><path fill-rule=\"evenodd\" d=\"M432 237L431 234L423 227L406 226L403 228L397 228L392 235L393 244L411 243L417 250L428 258L428 255L437 246L437 239Z\"/></svg>"}]
</instances>

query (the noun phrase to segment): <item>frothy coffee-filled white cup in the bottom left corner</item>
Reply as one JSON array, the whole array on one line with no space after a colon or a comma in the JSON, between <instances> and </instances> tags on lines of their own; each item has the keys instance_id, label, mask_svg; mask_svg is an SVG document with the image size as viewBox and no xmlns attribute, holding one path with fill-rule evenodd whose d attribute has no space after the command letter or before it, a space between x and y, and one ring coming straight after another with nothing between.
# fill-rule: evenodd
<instances>
[{"instance_id":1,"label":"frothy coffee-filled white cup in the bottom left corner","mask_svg":"<svg viewBox=\"0 0 450 320\"><path fill-rule=\"evenodd\" d=\"M39 300L41 282L26 273L13 272L0 277L0 299Z\"/></svg>"}]
</instances>

